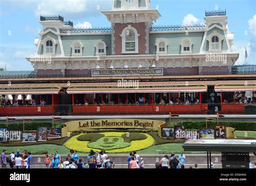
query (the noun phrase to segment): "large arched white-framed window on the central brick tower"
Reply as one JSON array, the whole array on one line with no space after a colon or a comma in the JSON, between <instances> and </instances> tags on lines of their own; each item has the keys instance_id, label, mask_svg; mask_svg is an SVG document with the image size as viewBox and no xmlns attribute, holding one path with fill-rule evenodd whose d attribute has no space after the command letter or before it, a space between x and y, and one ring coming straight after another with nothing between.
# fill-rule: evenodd
<instances>
[{"instance_id":1,"label":"large arched white-framed window on the central brick tower","mask_svg":"<svg viewBox=\"0 0 256 186\"><path fill-rule=\"evenodd\" d=\"M123 54L139 53L139 35L137 30L131 25L124 28L122 34L120 34L120 37L122 37Z\"/></svg>"}]
</instances>

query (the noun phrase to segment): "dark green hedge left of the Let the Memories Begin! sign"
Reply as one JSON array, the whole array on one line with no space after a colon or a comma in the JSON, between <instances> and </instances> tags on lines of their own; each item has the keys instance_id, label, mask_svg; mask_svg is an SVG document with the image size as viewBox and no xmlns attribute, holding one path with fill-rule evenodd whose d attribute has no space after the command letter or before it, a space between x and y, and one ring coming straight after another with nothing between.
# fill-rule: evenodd
<instances>
[{"instance_id":1,"label":"dark green hedge left of the Let the Memories Begin! sign","mask_svg":"<svg viewBox=\"0 0 256 186\"><path fill-rule=\"evenodd\" d=\"M30 122L25 123L25 131L37 131L38 126L47 126L52 127L51 122ZM55 123L54 127L62 128L64 126L63 123ZM6 124L0 124L0 127L6 127ZM9 130L23 130L23 123L9 123L8 124Z\"/></svg>"}]
</instances>

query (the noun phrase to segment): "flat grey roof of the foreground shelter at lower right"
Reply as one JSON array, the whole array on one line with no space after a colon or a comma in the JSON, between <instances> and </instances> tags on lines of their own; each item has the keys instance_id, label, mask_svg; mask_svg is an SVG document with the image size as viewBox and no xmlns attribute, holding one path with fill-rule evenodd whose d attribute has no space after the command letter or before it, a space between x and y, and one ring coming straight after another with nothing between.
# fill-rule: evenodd
<instances>
[{"instance_id":1,"label":"flat grey roof of the foreground shelter at lower right","mask_svg":"<svg viewBox=\"0 0 256 186\"><path fill-rule=\"evenodd\" d=\"M190 152L256 152L256 140L238 139L197 139L183 144L184 151Z\"/></svg>"}]
</instances>

